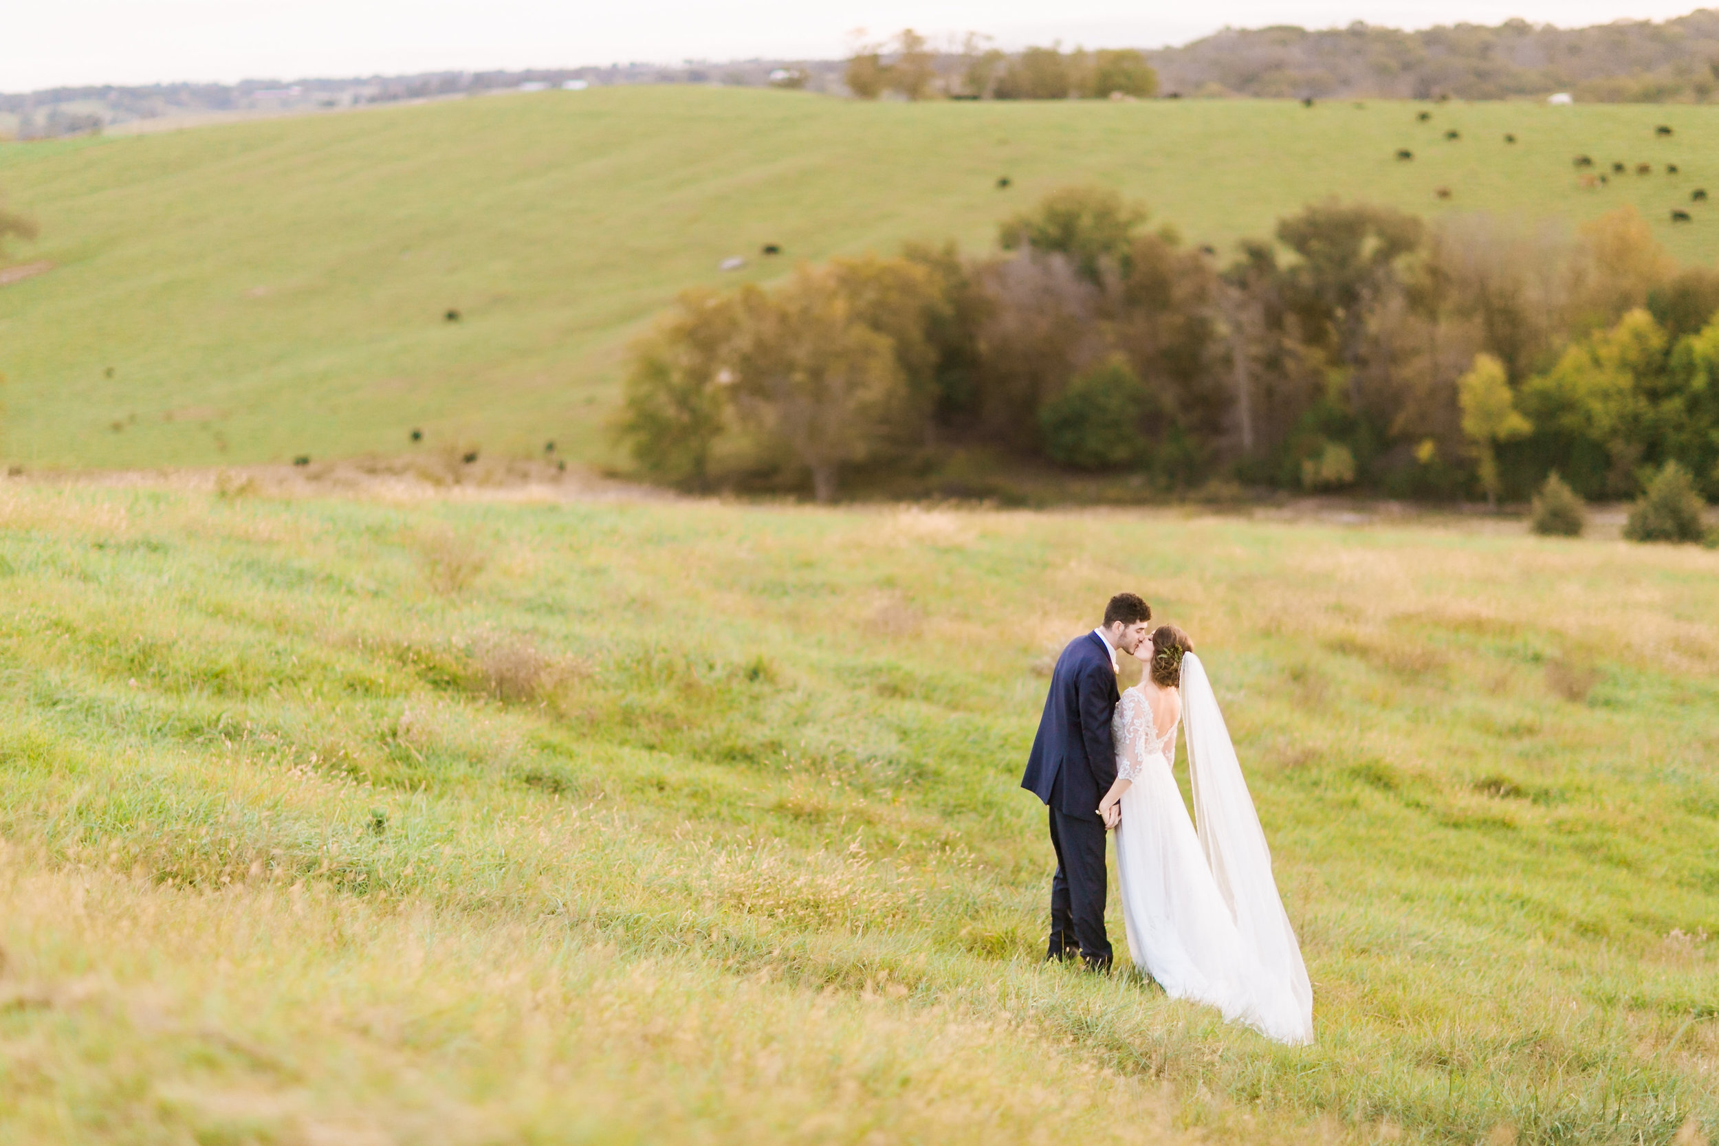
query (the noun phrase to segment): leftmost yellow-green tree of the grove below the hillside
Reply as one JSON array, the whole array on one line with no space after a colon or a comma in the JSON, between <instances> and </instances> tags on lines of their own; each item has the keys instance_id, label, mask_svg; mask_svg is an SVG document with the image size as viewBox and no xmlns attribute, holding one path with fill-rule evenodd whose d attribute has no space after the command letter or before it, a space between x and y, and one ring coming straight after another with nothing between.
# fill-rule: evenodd
<instances>
[{"instance_id":1,"label":"leftmost yellow-green tree of the grove below the hillside","mask_svg":"<svg viewBox=\"0 0 1719 1146\"><path fill-rule=\"evenodd\" d=\"M638 467L670 485L703 490L734 383L743 308L734 296L686 290L633 345L615 436Z\"/></svg>"}]
</instances>

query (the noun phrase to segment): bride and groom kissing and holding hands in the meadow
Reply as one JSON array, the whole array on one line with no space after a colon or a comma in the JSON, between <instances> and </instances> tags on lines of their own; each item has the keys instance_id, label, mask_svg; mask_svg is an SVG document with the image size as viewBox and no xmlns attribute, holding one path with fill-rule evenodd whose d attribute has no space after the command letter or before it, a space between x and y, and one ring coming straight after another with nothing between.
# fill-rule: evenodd
<instances>
[{"instance_id":1,"label":"bride and groom kissing and holding hands in the meadow","mask_svg":"<svg viewBox=\"0 0 1719 1146\"><path fill-rule=\"evenodd\" d=\"M1313 988L1284 912L1265 832L1253 811L1224 715L1176 625L1119 593L1104 624L1074 637L1050 694L1021 787L1050 808L1050 948L1109 971L1104 926L1105 832L1116 833L1128 952L1171 998L1217 1007L1282 1043L1313 1039ZM1117 692L1117 655L1145 663ZM1176 787L1184 732L1195 816Z\"/></svg>"}]
</instances>

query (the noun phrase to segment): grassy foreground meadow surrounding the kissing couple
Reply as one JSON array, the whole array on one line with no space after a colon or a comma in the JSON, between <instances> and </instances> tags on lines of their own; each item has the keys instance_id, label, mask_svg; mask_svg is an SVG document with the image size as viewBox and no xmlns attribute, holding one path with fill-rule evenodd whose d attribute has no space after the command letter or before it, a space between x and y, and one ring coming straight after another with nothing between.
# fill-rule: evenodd
<instances>
[{"instance_id":1,"label":"grassy foreground meadow surrounding the kissing couple","mask_svg":"<svg viewBox=\"0 0 1719 1146\"><path fill-rule=\"evenodd\" d=\"M21 483L0 524L10 1137L1719 1129L1709 552ZM1119 588L1219 687L1310 1048L1038 962L1019 765Z\"/></svg>"}]
</instances>

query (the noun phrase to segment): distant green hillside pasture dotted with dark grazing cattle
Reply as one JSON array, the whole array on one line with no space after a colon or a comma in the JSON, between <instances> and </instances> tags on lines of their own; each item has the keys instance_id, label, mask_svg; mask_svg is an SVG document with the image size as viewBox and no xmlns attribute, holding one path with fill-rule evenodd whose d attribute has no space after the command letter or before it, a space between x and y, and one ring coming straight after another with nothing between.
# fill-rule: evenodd
<instances>
[{"instance_id":1,"label":"distant green hillside pasture dotted with dark grazing cattle","mask_svg":"<svg viewBox=\"0 0 1719 1146\"><path fill-rule=\"evenodd\" d=\"M402 452L421 426L425 448L554 440L603 460L626 340L688 285L904 239L987 249L1004 215L1083 180L1219 247L1337 194L1561 220L1633 203L1674 254L1712 261L1719 208L1688 199L1719 192L1716 151L1719 112L1704 107L904 105L710 88L0 144L0 192L43 229L12 258L55 263L0 287L3 454L327 459ZM1576 153L1655 174L1583 189ZM1695 220L1673 227L1673 206ZM765 242L784 254L760 259ZM731 254L751 263L724 277Z\"/></svg>"}]
</instances>

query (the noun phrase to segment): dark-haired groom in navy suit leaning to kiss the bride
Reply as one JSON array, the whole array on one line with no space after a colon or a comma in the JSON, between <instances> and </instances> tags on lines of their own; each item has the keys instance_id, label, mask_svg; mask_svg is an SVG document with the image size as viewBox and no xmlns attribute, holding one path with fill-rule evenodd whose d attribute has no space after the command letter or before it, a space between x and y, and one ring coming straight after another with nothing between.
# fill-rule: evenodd
<instances>
[{"instance_id":1,"label":"dark-haired groom in navy suit leaning to kiss the bride","mask_svg":"<svg viewBox=\"0 0 1719 1146\"><path fill-rule=\"evenodd\" d=\"M1116 651L1140 648L1150 620L1150 605L1133 593L1117 593L1104 607L1104 624L1069 641L1050 674L1045 715L1038 718L1033 754L1021 777L1021 787L1050 806L1050 847L1057 852L1045 959L1067 959L1078 947L1093 971L1110 969L1098 801L1116 783L1110 744L1110 715L1119 699Z\"/></svg>"}]
</instances>

